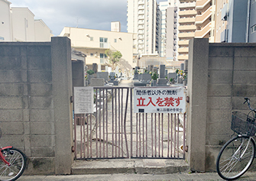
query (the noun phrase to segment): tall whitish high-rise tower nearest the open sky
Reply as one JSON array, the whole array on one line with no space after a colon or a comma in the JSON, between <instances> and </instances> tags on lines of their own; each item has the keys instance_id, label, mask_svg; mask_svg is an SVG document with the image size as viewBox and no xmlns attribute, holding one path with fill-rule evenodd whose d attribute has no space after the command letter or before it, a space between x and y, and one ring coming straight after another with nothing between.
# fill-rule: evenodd
<instances>
[{"instance_id":1,"label":"tall whitish high-rise tower nearest the open sky","mask_svg":"<svg viewBox=\"0 0 256 181\"><path fill-rule=\"evenodd\" d=\"M161 12L156 0L128 0L127 31L134 36L139 54L160 53Z\"/></svg>"}]
</instances>

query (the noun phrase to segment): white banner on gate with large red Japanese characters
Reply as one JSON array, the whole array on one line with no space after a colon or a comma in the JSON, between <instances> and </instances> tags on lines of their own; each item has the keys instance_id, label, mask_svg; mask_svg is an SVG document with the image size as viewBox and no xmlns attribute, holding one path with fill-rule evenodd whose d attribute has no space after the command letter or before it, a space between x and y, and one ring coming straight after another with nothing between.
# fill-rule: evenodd
<instances>
[{"instance_id":1,"label":"white banner on gate with large red Japanese characters","mask_svg":"<svg viewBox=\"0 0 256 181\"><path fill-rule=\"evenodd\" d=\"M186 93L177 88L134 88L135 113L185 113Z\"/></svg>"}]
</instances>

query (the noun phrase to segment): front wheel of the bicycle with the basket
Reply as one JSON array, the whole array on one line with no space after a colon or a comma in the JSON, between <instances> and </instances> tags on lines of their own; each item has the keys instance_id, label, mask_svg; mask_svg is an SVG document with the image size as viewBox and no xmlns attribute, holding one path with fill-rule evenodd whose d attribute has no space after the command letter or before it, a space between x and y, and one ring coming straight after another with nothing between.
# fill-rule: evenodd
<instances>
[{"instance_id":1,"label":"front wheel of the bicycle with the basket","mask_svg":"<svg viewBox=\"0 0 256 181\"><path fill-rule=\"evenodd\" d=\"M255 144L248 136L237 136L229 140L220 150L216 169L222 179L238 179L254 160Z\"/></svg>"}]
</instances>

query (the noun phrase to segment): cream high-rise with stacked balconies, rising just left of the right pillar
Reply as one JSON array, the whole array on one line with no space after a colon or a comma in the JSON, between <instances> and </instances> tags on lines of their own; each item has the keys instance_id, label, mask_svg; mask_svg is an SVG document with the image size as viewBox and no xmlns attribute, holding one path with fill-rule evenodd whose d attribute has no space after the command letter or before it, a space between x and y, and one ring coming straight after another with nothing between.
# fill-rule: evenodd
<instances>
[{"instance_id":1,"label":"cream high-rise with stacked balconies, rising just left of the right pillar","mask_svg":"<svg viewBox=\"0 0 256 181\"><path fill-rule=\"evenodd\" d=\"M180 0L178 19L178 56L177 60L188 60L189 40L195 37L196 0Z\"/></svg>"}]
</instances>

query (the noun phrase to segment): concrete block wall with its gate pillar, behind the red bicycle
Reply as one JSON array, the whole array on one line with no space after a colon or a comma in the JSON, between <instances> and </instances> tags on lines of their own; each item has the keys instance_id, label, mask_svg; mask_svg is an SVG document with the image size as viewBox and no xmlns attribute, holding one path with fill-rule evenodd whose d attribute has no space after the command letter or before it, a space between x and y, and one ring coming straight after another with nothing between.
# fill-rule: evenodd
<instances>
[{"instance_id":1,"label":"concrete block wall with its gate pillar, behind the red bicycle","mask_svg":"<svg viewBox=\"0 0 256 181\"><path fill-rule=\"evenodd\" d=\"M71 47L0 43L1 146L28 157L27 174L69 174L72 164Z\"/></svg>"}]
</instances>

